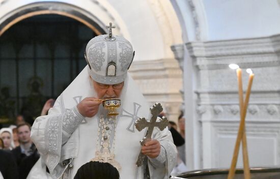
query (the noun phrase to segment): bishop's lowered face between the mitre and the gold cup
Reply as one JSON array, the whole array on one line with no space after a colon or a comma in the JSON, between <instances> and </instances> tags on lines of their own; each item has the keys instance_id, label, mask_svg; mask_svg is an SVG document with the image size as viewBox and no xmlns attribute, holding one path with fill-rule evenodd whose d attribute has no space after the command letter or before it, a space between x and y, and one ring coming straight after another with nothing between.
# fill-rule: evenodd
<instances>
[{"instance_id":1,"label":"bishop's lowered face between the mitre and the gold cup","mask_svg":"<svg viewBox=\"0 0 280 179\"><path fill-rule=\"evenodd\" d=\"M124 82L109 85L93 81L94 90L97 93L98 99L120 98Z\"/></svg>"}]
</instances>

